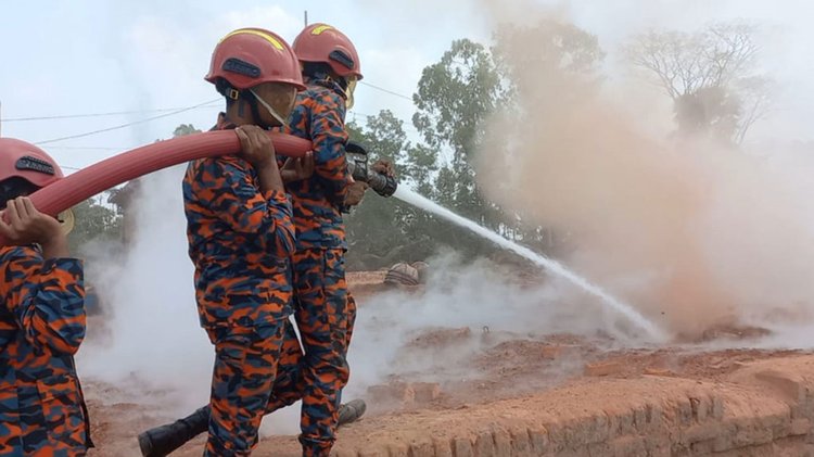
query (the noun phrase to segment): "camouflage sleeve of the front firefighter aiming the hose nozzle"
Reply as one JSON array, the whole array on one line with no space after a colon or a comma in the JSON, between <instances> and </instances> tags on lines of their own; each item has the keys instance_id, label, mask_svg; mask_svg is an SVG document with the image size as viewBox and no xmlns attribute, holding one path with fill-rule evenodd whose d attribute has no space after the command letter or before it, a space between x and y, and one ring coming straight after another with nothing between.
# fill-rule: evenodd
<instances>
[{"instance_id":1,"label":"camouflage sleeve of the front firefighter aiming the hose nozzle","mask_svg":"<svg viewBox=\"0 0 814 457\"><path fill-rule=\"evenodd\" d=\"M326 92L310 101L310 140L314 144L315 174L326 189L327 196L342 204L351 183L345 158L344 103L339 94Z\"/></svg>"}]
</instances>

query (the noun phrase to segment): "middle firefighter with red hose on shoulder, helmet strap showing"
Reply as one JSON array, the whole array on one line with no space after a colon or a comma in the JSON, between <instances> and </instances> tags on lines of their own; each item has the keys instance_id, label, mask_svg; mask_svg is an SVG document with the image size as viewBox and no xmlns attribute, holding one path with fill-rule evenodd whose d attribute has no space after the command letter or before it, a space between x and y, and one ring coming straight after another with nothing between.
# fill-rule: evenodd
<instances>
[{"instance_id":1,"label":"middle firefighter with red hose on shoulder, helmet strap showing","mask_svg":"<svg viewBox=\"0 0 814 457\"><path fill-rule=\"evenodd\" d=\"M247 456L292 313L291 201L266 130L285 124L304 86L289 45L259 28L228 34L206 80L226 98L218 125L241 153L191 162L182 183L199 317L215 346L204 455Z\"/></svg>"}]
</instances>

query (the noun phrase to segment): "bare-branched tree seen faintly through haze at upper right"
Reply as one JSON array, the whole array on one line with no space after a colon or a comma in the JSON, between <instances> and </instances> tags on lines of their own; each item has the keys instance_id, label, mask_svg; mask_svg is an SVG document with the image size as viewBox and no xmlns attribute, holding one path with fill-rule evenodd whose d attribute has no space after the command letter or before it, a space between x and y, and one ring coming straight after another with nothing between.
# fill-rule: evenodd
<instances>
[{"instance_id":1,"label":"bare-branched tree seen faintly through haze at upper right","mask_svg":"<svg viewBox=\"0 0 814 457\"><path fill-rule=\"evenodd\" d=\"M768 109L768 80L755 74L755 27L713 24L701 31L650 31L626 49L673 100L683 135L741 142Z\"/></svg>"}]
</instances>

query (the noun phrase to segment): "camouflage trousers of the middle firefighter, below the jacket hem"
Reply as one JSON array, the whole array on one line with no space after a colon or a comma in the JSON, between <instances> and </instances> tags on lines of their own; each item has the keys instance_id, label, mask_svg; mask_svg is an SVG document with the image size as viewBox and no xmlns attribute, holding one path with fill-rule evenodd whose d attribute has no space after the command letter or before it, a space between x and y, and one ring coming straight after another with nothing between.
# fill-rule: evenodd
<instances>
[{"instance_id":1,"label":"camouflage trousers of the middle firefighter, below the jacket hem","mask_svg":"<svg viewBox=\"0 0 814 457\"><path fill-rule=\"evenodd\" d=\"M207 329L215 368L204 456L251 454L277 378L287 322Z\"/></svg>"}]
</instances>

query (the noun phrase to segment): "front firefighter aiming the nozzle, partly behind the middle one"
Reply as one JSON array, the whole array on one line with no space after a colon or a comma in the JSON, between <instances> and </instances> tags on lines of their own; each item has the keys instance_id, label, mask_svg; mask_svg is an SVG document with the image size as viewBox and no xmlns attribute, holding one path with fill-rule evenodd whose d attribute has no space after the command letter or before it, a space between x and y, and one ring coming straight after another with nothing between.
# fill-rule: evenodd
<instances>
[{"instance_id":1,"label":"front firefighter aiming the nozzle, partly behind the middle one","mask_svg":"<svg viewBox=\"0 0 814 457\"><path fill-rule=\"evenodd\" d=\"M353 182L345 113L363 75L353 42L330 25L306 27L293 47L307 90L297 96L285 131L311 140L316 163L313 177L287 187L297 230L294 316L305 351L300 442L304 456L328 456L349 377L346 356L356 316L345 282L342 213Z\"/></svg>"}]
</instances>

